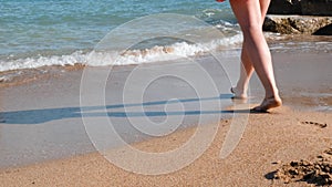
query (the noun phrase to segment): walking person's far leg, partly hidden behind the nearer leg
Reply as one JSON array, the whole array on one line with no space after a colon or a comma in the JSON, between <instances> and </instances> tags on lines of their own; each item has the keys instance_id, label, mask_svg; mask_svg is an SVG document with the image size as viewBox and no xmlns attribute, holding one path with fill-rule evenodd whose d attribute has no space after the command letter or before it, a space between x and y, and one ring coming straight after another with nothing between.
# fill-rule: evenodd
<instances>
[{"instance_id":1,"label":"walking person's far leg, partly hidden behind the nearer leg","mask_svg":"<svg viewBox=\"0 0 332 187\"><path fill-rule=\"evenodd\" d=\"M260 1L261 27L267 15L269 4L270 4L270 0ZM243 43L245 42L246 40L243 40ZM231 92L235 94L235 98L247 97L248 85L252 73L253 73L253 65L248 56L246 44L242 44L240 77L237 82L236 87L231 89Z\"/></svg>"}]
</instances>

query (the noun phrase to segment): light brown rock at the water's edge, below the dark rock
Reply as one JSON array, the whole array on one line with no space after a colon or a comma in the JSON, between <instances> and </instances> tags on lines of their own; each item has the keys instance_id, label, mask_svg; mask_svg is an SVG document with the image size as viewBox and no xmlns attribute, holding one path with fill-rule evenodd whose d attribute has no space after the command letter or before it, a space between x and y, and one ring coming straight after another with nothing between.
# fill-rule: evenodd
<instances>
[{"instance_id":1,"label":"light brown rock at the water's edge, below the dark rock","mask_svg":"<svg viewBox=\"0 0 332 187\"><path fill-rule=\"evenodd\" d=\"M267 15L263 30L282 34L313 34L332 23L332 17Z\"/></svg>"}]
</instances>

